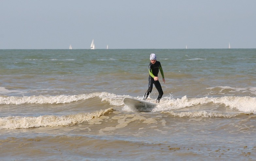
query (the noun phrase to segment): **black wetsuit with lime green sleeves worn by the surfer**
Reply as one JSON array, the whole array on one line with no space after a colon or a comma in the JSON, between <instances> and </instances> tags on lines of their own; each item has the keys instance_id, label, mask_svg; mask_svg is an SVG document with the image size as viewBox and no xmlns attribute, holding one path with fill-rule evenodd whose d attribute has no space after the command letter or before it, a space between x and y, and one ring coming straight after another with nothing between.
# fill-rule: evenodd
<instances>
[{"instance_id":1,"label":"black wetsuit with lime green sleeves worn by the surfer","mask_svg":"<svg viewBox=\"0 0 256 161\"><path fill-rule=\"evenodd\" d=\"M146 100L148 98L149 94L152 92L153 84L155 85L155 88L157 89L157 91L159 93L157 100L160 101L160 99L162 98L164 92L162 90L161 84L160 84L159 80L156 80L156 81L154 80L154 77L158 77L159 70L164 79L165 77L164 77L164 72L163 72L161 63L158 61L156 61L155 64L149 63L149 89L147 90L147 92L144 95L144 100Z\"/></svg>"}]
</instances>

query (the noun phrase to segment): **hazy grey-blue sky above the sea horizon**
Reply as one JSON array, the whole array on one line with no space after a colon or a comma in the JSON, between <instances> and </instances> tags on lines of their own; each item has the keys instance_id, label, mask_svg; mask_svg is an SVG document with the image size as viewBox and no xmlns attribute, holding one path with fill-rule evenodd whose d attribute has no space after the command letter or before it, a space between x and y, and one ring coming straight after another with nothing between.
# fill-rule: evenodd
<instances>
[{"instance_id":1,"label":"hazy grey-blue sky above the sea horizon","mask_svg":"<svg viewBox=\"0 0 256 161\"><path fill-rule=\"evenodd\" d=\"M256 48L256 0L0 0L0 49Z\"/></svg>"}]
</instances>

